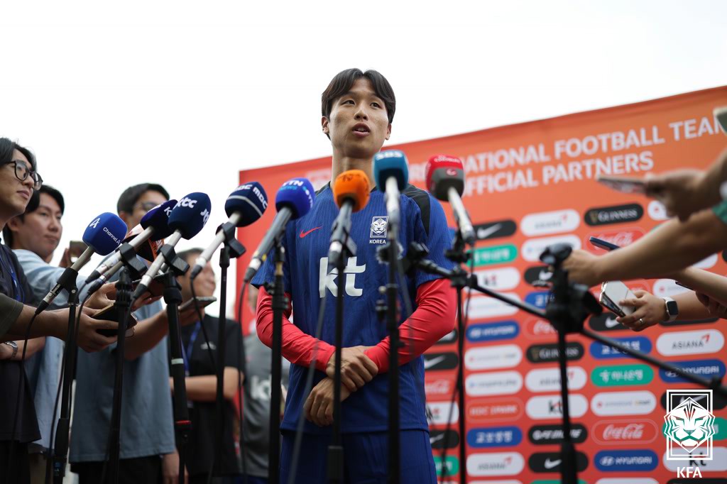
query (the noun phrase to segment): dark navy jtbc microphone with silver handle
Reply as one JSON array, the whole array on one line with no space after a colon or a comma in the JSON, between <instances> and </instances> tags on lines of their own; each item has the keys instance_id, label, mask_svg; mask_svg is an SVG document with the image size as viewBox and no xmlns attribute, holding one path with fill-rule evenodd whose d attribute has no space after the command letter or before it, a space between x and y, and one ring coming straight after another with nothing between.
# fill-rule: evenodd
<instances>
[{"instance_id":1,"label":"dark navy jtbc microphone with silver handle","mask_svg":"<svg viewBox=\"0 0 727 484\"><path fill-rule=\"evenodd\" d=\"M164 247L174 247L180 239L189 239L197 235L207 223L210 209L212 209L212 203L205 193L193 192L178 201L174 209L172 209L172 213L169 214L169 229L174 230L174 232L169 235ZM165 262L171 262L164 257L164 247L162 247L159 257L154 259L154 262L151 263L141 278L141 282L134 294L132 294L132 301L139 299L146 292L152 279L159 272L161 265Z\"/></svg>"}]
</instances>

